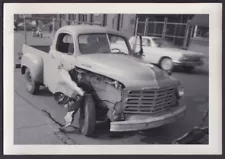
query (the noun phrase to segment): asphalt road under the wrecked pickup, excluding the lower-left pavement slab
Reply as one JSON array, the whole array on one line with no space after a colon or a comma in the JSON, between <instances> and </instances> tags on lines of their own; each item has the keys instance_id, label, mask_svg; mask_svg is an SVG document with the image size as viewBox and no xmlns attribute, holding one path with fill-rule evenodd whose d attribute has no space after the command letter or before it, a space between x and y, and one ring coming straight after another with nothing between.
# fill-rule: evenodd
<instances>
[{"instance_id":1,"label":"asphalt road under the wrecked pickup, excluding the lower-left pavement slab","mask_svg":"<svg viewBox=\"0 0 225 159\"><path fill-rule=\"evenodd\" d=\"M23 42L21 42L22 40L18 40L18 38L21 39L21 37L21 35L15 36L15 52L18 52L18 50L21 49L21 43ZM49 43L49 41L46 43ZM108 131L108 126L106 124L99 124L97 125L96 134L93 138L85 137L73 129L71 129L67 135L73 139L76 144L171 143L175 138L183 135L196 124L199 124L201 122L202 115L208 109L208 65L199 67L193 73L185 73L183 70L175 70L172 76L179 79L185 88L183 100L188 108L183 119L159 128L138 132L111 133ZM45 110L49 112L55 120L60 123L64 123L63 118L66 113L66 109L59 106L54 101L52 94L44 88L38 95L30 95L26 91L24 78L20 73L20 69L15 69L14 71L14 91L23 97L23 99L31 103L31 106L35 107L37 111ZM76 116L76 119L77 117L78 116ZM78 126L76 120L73 125Z\"/></svg>"}]
</instances>

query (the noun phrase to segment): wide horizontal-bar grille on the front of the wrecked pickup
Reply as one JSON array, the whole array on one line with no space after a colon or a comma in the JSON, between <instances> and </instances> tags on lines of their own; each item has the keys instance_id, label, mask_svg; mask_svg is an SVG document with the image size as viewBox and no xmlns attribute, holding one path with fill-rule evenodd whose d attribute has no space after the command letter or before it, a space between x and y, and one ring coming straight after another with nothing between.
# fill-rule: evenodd
<instances>
[{"instance_id":1,"label":"wide horizontal-bar grille on the front of the wrecked pickup","mask_svg":"<svg viewBox=\"0 0 225 159\"><path fill-rule=\"evenodd\" d=\"M176 104L175 88L132 90L126 97L124 113L153 114Z\"/></svg>"}]
</instances>

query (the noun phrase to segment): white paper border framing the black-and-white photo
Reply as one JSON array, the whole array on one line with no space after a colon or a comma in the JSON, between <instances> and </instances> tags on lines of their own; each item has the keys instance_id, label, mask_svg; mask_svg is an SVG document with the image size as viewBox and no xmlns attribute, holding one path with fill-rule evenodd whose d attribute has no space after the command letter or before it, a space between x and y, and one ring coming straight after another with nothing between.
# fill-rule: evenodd
<instances>
[{"instance_id":1,"label":"white paper border framing the black-and-white photo","mask_svg":"<svg viewBox=\"0 0 225 159\"><path fill-rule=\"evenodd\" d=\"M3 12L4 154L222 154L222 3L5 3ZM14 145L13 18L38 13L209 14L209 145Z\"/></svg>"}]
</instances>

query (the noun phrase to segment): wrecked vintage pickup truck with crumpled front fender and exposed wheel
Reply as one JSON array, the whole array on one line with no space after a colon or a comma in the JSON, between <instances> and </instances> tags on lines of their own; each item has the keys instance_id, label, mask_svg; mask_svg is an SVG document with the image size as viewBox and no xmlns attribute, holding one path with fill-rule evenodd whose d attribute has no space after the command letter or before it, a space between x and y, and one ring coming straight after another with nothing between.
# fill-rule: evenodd
<instances>
[{"instance_id":1,"label":"wrecked vintage pickup truck with crumpled front fender and exposed wheel","mask_svg":"<svg viewBox=\"0 0 225 159\"><path fill-rule=\"evenodd\" d=\"M64 26L49 49L23 45L21 73L31 94L44 85L65 104L83 99L79 127L86 136L94 133L96 121L109 120L110 131L118 132L178 120L186 109L180 82L134 54L116 30Z\"/></svg>"}]
</instances>

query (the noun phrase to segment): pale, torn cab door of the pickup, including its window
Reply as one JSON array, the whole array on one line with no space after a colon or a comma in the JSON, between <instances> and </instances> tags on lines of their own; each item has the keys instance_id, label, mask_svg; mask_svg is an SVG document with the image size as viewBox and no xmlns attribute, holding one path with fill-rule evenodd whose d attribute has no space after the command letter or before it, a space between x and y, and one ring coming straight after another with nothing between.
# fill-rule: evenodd
<instances>
[{"instance_id":1,"label":"pale, torn cab door of the pickup, including its window","mask_svg":"<svg viewBox=\"0 0 225 159\"><path fill-rule=\"evenodd\" d=\"M68 72L75 66L73 38L68 33L59 33L56 38L45 60L45 84L52 93L62 92L67 96L73 92L82 93Z\"/></svg>"}]
</instances>

